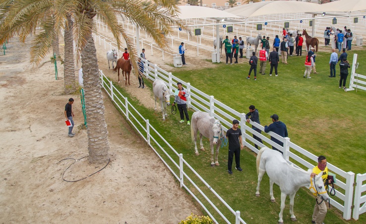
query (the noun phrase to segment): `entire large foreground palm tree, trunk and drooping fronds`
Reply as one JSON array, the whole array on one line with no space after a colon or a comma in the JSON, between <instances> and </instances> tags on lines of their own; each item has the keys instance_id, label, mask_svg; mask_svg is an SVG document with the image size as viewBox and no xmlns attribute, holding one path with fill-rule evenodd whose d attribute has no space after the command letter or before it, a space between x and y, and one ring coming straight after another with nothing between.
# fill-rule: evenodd
<instances>
[{"instance_id":1,"label":"entire large foreground palm tree, trunk and drooping fronds","mask_svg":"<svg viewBox=\"0 0 366 224\"><path fill-rule=\"evenodd\" d=\"M108 161L109 143L104 116L104 103L99 77L96 48L92 36L97 16L113 34L118 48L122 38L130 51L132 63L136 68L136 50L127 32L118 25L117 15L133 21L140 29L145 30L163 50L168 50L164 34L172 31L171 26L184 29L184 25L175 20L178 7L176 0L154 0L155 4L143 5L136 0L11 0L0 3L0 44L15 34L24 42L26 37L40 26L31 47L31 62L38 64L48 53L52 41L61 29L72 29L76 45L76 58L81 57L85 107L87 113L87 134L89 162L104 163ZM163 7L157 10L157 3ZM73 20L67 20L68 14ZM66 45L66 42L65 42ZM69 44L68 44L69 45ZM66 56L66 55L65 55Z\"/></svg>"}]
</instances>

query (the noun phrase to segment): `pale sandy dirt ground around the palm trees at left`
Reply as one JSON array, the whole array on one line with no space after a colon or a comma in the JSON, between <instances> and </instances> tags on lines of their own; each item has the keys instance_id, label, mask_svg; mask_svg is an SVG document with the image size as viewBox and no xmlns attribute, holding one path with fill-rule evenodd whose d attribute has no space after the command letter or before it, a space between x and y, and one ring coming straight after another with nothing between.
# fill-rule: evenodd
<instances>
[{"instance_id":1,"label":"pale sandy dirt ground around the palm trees at left","mask_svg":"<svg viewBox=\"0 0 366 224\"><path fill-rule=\"evenodd\" d=\"M62 66L58 65L60 79L55 80L51 62L29 65L29 44L13 39L6 55L0 56L0 223L176 224L191 213L202 215L106 95L110 163L81 181L64 181L62 175L74 160L63 159L88 155L86 130L79 128L80 97L62 93ZM99 51L98 47L105 59L105 50ZM127 89L140 96L139 91L144 92L142 97L154 102L149 90L137 88L135 77L131 82ZM70 97L75 99L76 116L72 138L63 114ZM64 179L82 179L104 166L89 165L84 158L65 172Z\"/></svg>"}]
</instances>

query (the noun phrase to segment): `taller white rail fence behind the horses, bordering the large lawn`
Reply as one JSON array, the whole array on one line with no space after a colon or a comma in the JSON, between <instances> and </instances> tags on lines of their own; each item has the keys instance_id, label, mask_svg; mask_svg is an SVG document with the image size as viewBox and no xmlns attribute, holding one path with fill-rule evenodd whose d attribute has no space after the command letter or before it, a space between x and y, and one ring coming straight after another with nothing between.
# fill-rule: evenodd
<instances>
[{"instance_id":1,"label":"taller white rail fence behind the horses, bordering the large lawn","mask_svg":"<svg viewBox=\"0 0 366 224\"><path fill-rule=\"evenodd\" d=\"M108 40L108 43L111 43L111 41ZM115 43L113 44L116 45ZM252 145L253 143L257 144L259 147L265 146L264 144L254 139L252 135L250 135L255 134L256 136L259 136L262 139L262 141L281 150L283 152L284 158L289 164L294 164L294 166L296 167L299 167L298 165L301 165L303 167L299 168L302 169L304 167L306 167L307 169L313 169L314 161L317 162L317 156L310 153L306 149L296 145L295 143L291 142L290 138L281 137L278 134L269 132L268 134L270 136L273 136L277 138L279 141L283 142L283 146L278 145L277 143L270 140L270 138L268 138L266 135L259 134L252 128L247 126L244 113L240 113L236 110L233 110L224 103L216 100L213 95L208 95L203 91L198 90L197 88L191 86L190 83L186 83L183 80L180 80L177 77L173 76L171 72L166 72L163 69L159 68L156 64L152 64L151 62L145 61L144 59L142 59L142 61L145 62L144 74L146 75L147 79L150 79L152 81L156 79L161 79L167 85L172 95L176 90L176 83L181 82L184 88L186 88L190 93L190 97L188 97L187 100L187 106L189 108L194 109L195 111L208 112L211 116L215 117L221 122L224 131L227 131L228 128L231 128L232 120L234 119L239 120L240 121L239 127L243 134L242 135L243 143L252 151L256 153L258 153L259 151ZM260 129L261 131L264 131L263 126L257 123L250 123L250 124ZM249 132L250 134L247 134L246 131ZM305 156L307 159L301 158L300 155ZM309 161L311 161L312 163L310 163ZM343 218L345 220L350 220L353 207L352 199L354 195L353 193L354 193L355 174L353 172L345 172L330 163L328 163L328 168L332 173L335 173L337 177L339 177L339 179L337 179L336 184L337 188L335 189L336 194L334 196L334 199L330 198L330 203L334 207L342 211ZM362 188L362 190L365 191L365 188ZM357 205L355 205L355 207L356 206Z\"/></svg>"}]
</instances>

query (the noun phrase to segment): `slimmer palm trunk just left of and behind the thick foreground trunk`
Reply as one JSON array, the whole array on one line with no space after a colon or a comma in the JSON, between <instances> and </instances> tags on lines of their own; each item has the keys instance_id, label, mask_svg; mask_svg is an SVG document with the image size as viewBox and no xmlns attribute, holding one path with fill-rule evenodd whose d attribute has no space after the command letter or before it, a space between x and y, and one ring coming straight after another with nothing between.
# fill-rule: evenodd
<instances>
[{"instance_id":1,"label":"slimmer palm trunk just left of and behind the thick foreground trunk","mask_svg":"<svg viewBox=\"0 0 366 224\"><path fill-rule=\"evenodd\" d=\"M63 79L64 79L64 92L69 94L76 90L75 85L75 65L74 65L74 48L73 48L73 37L72 37L72 20L71 15L67 15L67 27L64 32L65 41L65 59L63 68Z\"/></svg>"}]
</instances>

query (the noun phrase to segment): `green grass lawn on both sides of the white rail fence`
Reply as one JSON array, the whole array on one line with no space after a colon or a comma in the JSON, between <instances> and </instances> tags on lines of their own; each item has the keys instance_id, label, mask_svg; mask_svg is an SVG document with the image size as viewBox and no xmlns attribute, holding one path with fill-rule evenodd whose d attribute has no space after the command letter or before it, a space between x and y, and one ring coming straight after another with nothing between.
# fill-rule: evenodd
<instances>
[{"instance_id":1,"label":"green grass lawn on both sides of the white rail fence","mask_svg":"<svg viewBox=\"0 0 366 224\"><path fill-rule=\"evenodd\" d=\"M360 53L360 52L359 52ZM317 71L313 79L303 79L305 57L289 57L289 65L279 66L279 76L269 77L259 75L258 81L247 80L249 65L246 62L239 65L218 64L212 69L174 72L173 75L190 82L194 87L214 95L216 99L227 104L239 112L247 112L250 104L256 105L260 111L263 125L269 124L270 114L277 113L280 120L286 123L291 140L315 155L324 154L328 161L339 168L355 173L365 173L365 96L366 92L344 92L338 89L338 78L328 78L327 60L329 55L319 53L317 57ZM359 55L359 58L361 55ZM242 61L243 61L242 60ZM324 66L321 64L324 63ZM285 69L286 68L286 69ZM337 68L338 69L338 68ZM363 69L363 70L362 70ZM298 70L297 72L290 72ZM338 71L338 70L337 70ZM361 61L358 72L366 74ZM266 72L268 74L268 71ZM152 87L151 82L146 85ZM116 85L117 86L117 85ZM236 211L241 211L241 217L248 224L270 224L278 221L280 211L280 190L274 185L275 203L269 200L269 180L264 175L261 182L261 196L256 197L257 173L255 153L248 149L241 152L241 167L243 172L233 170L233 175L227 173L227 147L221 148L219 153L220 166L210 167L209 142L204 139L206 151L200 151L200 156L194 153L194 144L190 137L190 127L186 123L179 124L179 113L171 115L165 122L161 121L161 113L144 107L136 98L129 95L123 88L118 88L129 98L134 107L146 118L151 125L172 145L178 153L183 153L184 159L209 183L209 185ZM153 96L152 96L153 97ZM170 108L168 108L170 109ZM190 116L193 111L189 110ZM133 113L135 116L136 113ZM142 119L139 119L142 122ZM141 128L139 128L141 130ZM309 129L309 130L307 130ZM157 134L152 134L157 138ZM168 149L162 140L159 144L169 153L176 163L178 158ZM151 140L152 144L153 140ZM157 148L157 147L155 147ZM352 155L347 154L352 150ZM165 161L166 155L161 150L159 154ZM343 154L347 155L344 156ZM173 167L172 162L167 162ZM315 164L314 164L315 165ZM179 170L174 168L179 176ZM203 187L191 171L185 172L199 185L210 198L213 194ZM199 192L188 183L185 184L196 195ZM219 223L225 223L217 213L198 196ZM192 198L192 200L194 200ZM214 199L213 203L224 213L231 223L235 223L235 216L225 206ZM314 196L309 190L302 188L295 197L294 213L299 224L311 223L314 208ZM204 210L202 209L204 212ZM205 213L205 212L204 212ZM188 216L189 214L187 214ZM283 219L285 223L292 223L289 215L289 199L286 200ZM365 214L358 222L344 221L342 214L333 207L328 210L326 223L365 223Z\"/></svg>"}]
</instances>

